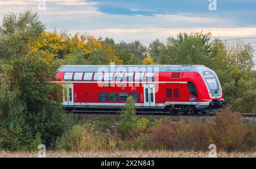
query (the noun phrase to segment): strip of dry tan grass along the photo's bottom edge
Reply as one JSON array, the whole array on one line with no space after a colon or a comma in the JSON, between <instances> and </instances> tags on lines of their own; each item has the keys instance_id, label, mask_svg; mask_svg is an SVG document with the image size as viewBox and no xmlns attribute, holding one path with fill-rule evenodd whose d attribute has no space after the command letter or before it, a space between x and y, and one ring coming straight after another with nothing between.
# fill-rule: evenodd
<instances>
[{"instance_id":1,"label":"strip of dry tan grass along the photo's bottom edge","mask_svg":"<svg viewBox=\"0 0 256 169\"><path fill-rule=\"evenodd\" d=\"M47 157L208 157L208 152L202 151L84 151L84 152L66 152L66 151L48 151ZM10 153L0 151L0 157L38 157L37 153L16 152ZM256 157L256 152L250 153L226 153L224 151L217 153L217 157Z\"/></svg>"}]
</instances>

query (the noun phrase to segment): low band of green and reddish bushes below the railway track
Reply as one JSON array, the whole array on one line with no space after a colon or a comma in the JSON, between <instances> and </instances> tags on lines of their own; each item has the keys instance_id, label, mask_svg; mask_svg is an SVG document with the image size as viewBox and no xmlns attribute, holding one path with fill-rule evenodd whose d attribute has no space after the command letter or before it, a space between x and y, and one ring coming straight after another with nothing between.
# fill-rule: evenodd
<instances>
[{"instance_id":1,"label":"low band of green and reddish bushes below the railway track","mask_svg":"<svg viewBox=\"0 0 256 169\"><path fill-rule=\"evenodd\" d=\"M129 109L130 111L126 111ZM256 124L243 124L241 116L221 111L214 122L135 119L133 98L120 121L86 119L69 129L57 141L57 150L114 151L166 150L207 151L210 144L218 151L255 151ZM129 117L129 118L128 118ZM125 120L125 123L123 123ZM129 129L129 130L128 130Z\"/></svg>"}]
</instances>

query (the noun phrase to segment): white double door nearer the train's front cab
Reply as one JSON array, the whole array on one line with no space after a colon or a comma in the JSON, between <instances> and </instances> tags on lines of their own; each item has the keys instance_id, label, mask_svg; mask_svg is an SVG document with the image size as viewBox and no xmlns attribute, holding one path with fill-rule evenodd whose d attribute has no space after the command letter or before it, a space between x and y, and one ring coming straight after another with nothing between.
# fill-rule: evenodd
<instances>
[{"instance_id":1,"label":"white double door nearer the train's front cab","mask_svg":"<svg viewBox=\"0 0 256 169\"><path fill-rule=\"evenodd\" d=\"M155 108L155 84L143 84L144 107Z\"/></svg>"}]
</instances>

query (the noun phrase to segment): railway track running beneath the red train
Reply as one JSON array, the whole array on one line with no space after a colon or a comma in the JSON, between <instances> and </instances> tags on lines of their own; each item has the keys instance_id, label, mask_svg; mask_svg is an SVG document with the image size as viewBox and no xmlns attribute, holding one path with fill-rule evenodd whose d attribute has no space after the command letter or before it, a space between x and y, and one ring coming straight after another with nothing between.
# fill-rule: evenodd
<instances>
[{"instance_id":1,"label":"railway track running beneath the red train","mask_svg":"<svg viewBox=\"0 0 256 169\"><path fill-rule=\"evenodd\" d=\"M121 111L65 111L67 113L73 114L85 114L85 115L120 115ZM218 113L169 113L169 112L159 112L159 111L137 111L136 115L143 116L216 116ZM256 117L256 113L238 113L242 117Z\"/></svg>"}]
</instances>

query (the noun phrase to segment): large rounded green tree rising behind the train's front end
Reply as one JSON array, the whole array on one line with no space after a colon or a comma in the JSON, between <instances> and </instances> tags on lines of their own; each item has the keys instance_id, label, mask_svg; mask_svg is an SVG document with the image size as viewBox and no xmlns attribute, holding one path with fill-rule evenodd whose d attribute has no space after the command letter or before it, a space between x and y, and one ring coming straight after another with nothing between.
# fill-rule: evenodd
<instances>
[{"instance_id":1,"label":"large rounded green tree rising behind the train's front end","mask_svg":"<svg viewBox=\"0 0 256 169\"><path fill-rule=\"evenodd\" d=\"M160 50L160 64L194 65L205 64L210 52L211 33L179 33L177 38L168 37Z\"/></svg>"}]
</instances>

